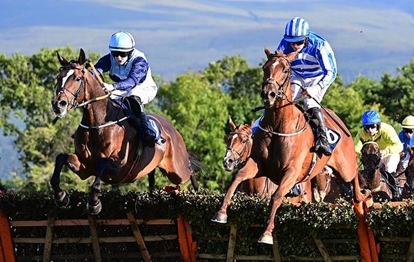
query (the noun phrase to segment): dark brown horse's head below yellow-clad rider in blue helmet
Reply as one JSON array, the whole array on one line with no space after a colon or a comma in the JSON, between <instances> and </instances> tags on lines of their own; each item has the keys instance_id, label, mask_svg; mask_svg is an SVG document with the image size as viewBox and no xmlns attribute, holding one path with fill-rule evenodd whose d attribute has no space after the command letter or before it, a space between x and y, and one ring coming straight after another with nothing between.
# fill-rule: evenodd
<instances>
[{"instance_id":1,"label":"dark brown horse's head below yellow-clad rider in blue helmet","mask_svg":"<svg viewBox=\"0 0 414 262\"><path fill-rule=\"evenodd\" d=\"M364 166L362 175L371 189L380 186L380 161L381 153L377 142L365 142L361 149L361 162Z\"/></svg>"}]
</instances>

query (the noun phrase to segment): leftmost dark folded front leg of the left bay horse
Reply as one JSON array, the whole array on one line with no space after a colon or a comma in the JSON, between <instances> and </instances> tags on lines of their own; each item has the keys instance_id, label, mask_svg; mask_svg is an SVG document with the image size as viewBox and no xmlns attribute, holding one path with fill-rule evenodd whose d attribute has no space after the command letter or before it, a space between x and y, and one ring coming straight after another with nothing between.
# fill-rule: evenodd
<instances>
[{"instance_id":1,"label":"leftmost dark folded front leg of the left bay horse","mask_svg":"<svg viewBox=\"0 0 414 262\"><path fill-rule=\"evenodd\" d=\"M59 153L55 160L55 169L53 170L52 178L50 178L50 185L54 191L55 203L58 206L66 206L69 204L69 196L66 191L63 191L60 188L60 174L63 168L63 165L68 160L67 153Z\"/></svg>"}]
</instances>

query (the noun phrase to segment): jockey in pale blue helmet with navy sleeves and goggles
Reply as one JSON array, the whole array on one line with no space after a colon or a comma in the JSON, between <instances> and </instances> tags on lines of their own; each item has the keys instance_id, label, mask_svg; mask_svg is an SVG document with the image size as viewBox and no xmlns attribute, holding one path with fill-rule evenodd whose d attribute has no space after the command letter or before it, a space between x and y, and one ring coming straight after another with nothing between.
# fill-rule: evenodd
<instances>
[{"instance_id":1,"label":"jockey in pale blue helmet with navy sleeves and goggles","mask_svg":"<svg viewBox=\"0 0 414 262\"><path fill-rule=\"evenodd\" d=\"M155 98L158 88L152 79L148 60L144 53L135 48L135 39L129 32L115 32L110 37L109 50L110 53L101 57L95 67L99 73L109 72L110 79L115 83L103 85L111 91L112 99L127 97L136 116L130 118L132 125L144 142L153 147L155 133L148 126L144 104Z\"/></svg>"}]
</instances>

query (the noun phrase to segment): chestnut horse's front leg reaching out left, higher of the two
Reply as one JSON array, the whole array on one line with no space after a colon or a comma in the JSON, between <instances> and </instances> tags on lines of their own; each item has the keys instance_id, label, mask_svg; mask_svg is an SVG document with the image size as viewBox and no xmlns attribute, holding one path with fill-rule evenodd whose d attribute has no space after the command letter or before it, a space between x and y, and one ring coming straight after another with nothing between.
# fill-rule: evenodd
<instances>
[{"instance_id":1,"label":"chestnut horse's front leg reaching out left, higher of the two","mask_svg":"<svg viewBox=\"0 0 414 262\"><path fill-rule=\"evenodd\" d=\"M242 183L242 181L254 178L258 171L259 169L257 168L257 163L252 158L248 158L246 165L244 165L244 167L237 172L233 182L226 192L226 196L224 196L223 205L221 205L219 212L211 218L211 221L217 223L227 223L227 207L230 205L230 200L235 193L235 190L239 184Z\"/></svg>"}]
</instances>

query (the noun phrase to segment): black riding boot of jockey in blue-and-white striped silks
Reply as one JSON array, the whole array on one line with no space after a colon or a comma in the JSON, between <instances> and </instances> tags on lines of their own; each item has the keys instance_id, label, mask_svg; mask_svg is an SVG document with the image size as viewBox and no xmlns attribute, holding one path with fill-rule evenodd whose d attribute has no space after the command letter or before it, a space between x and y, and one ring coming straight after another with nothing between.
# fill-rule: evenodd
<instances>
[{"instance_id":1,"label":"black riding boot of jockey in blue-and-white striped silks","mask_svg":"<svg viewBox=\"0 0 414 262\"><path fill-rule=\"evenodd\" d=\"M317 141L313 150L317 153L323 153L325 156L331 156L332 150L328 138L326 138L324 114L317 107L308 109L308 113L311 115L311 121L315 124L317 134Z\"/></svg>"}]
</instances>

